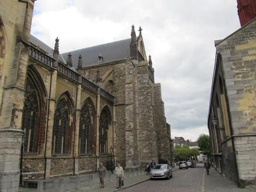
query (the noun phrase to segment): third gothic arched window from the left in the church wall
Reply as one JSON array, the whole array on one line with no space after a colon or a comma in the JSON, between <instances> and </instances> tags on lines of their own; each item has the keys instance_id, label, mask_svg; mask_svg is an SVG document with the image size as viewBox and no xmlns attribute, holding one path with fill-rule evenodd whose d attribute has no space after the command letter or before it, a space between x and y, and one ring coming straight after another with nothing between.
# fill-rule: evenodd
<instances>
[{"instance_id":1,"label":"third gothic arched window from the left in the church wall","mask_svg":"<svg viewBox=\"0 0 256 192\"><path fill-rule=\"evenodd\" d=\"M92 123L88 106L83 105L79 122L79 154L90 154L91 152Z\"/></svg>"}]
</instances>

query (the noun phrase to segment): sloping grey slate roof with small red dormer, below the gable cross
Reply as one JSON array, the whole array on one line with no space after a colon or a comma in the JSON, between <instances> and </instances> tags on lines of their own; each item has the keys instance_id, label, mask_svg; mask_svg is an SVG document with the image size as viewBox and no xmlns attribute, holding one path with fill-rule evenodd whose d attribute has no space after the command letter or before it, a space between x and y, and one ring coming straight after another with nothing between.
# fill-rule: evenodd
<instances>
[{"instance_id":1,"label":"sloping grey slate roof with small red dormer, below the gable cross","mask_svg":"<svg viewBox=\"0 0 256 192\"><path fill-rule=\"evenodd\" d=\"M82 66L97 65L99 63L107 63L112 61L118 61L126 59L130 56L130 43L131 38L121 41L115 41L106 43L103 45L97 45L88 48L82 48L81 50L62 53L63 58L67 59L68 53L72 55L72 64L76 68L79 55L82 56ZM102 61L98 61L98 57L101 54Z\"/></svg>"}]
</instances>

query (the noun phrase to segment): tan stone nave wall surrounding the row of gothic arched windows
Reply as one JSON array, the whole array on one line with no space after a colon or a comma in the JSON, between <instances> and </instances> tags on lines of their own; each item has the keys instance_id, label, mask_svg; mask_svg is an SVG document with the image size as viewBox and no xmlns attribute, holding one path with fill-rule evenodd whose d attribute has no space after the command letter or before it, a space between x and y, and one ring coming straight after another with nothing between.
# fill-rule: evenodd
<instances>
[{"instance_id":1,"label":"tan stone nave wall surrounding the row of gothic arched windows","mask_svg":"<svg viewBox=\"0 0 256 192\"><path fill-rule=\"evenodd\" d=\"M33 60L33 58L31 58L31 60ZM30 61L30 63L32 63L32 61ZM50 92L51 71L53 71L53 69L49 68L49 67L43 67L43 65L38 65L37 63L33 63L33 66L35 66L37 72L40 73L43 83L46 86L47 92ZM110 109L111 116L113 117L113 115L114 115L114 114L112 114L113 104L109 100L105 99L105 97L103 97L103 96L99 97L98 93L88 90L87 87L80 86L79 82L70 80L69 78L65 77L62 74L58 74L56 76L56 80L54 80L54 79L55 78L53 75L51 88L53 90L56 87L56 92L54 94L56 97L56 100L65 91L68 91L70 93L73 105L75 105L76 97L77 97L77 102L79 102L79 105L77 105L77 107L78 107L77 108L77 114L78 114L77 116L78 117L76 117L77 125L79 125L78 121L79 121L80 107L82 107L82 104L85 102L85 100L88 97L90 97L90 99L92 101L92 105L95 108L95 112L97 110L96 104L98 102L99 106L100 106L100 111L102 110L102 108L104 106L107 105ZM78 90L81 89L81 91L77 91L77 86L80 87L80 88L78 88ZM80 94L80 95L77 95L77 94ZM48 93L47 93L47 95L48 95ZM100 98L99 101L97 101L97 97ZM52 106L52 107L53 107L52 112L54 114L56 105ZM75 106L74 106L73 110L74 110L73 112L75 112ZM50 111L51 111L51 109L50 109ZM96 117L95 117L95 119L96 119ZM111 126L112 125L113 124L111 123ZM49 124L49 126L51 126L51 125ZM49 127L49 128L52 129L52 127ZM97 128L94 127L93 129L97 129L97 131L99 131L99 125L97 125ZM93 132L95 132L95 131L96 130L93 130ZM78 135L78 132L76 133L76 135ZM48 138L49 138L48 141L50 141L50 142L51 142L51 137L52 137L51 135L48 135ZM71 140L73 140L73 132L71 134L71 137L72 137ZM77 138L77 136L76 136L76 138ZM99 141L99 137L97 137L96 139ZM110 132L108 141L109 141L109 148L110 148L110 146L112 145L112 130ZM77 143L77 141L75 141L75 144L76 143ZM77 144L75 145L76 148L78 147ZM95 145L95 136L92 136L92 144ZM73 146L72 146L73 142L70 142L70 144L68 144L68 145L69 145L68 148L70 149L70 151L65 156L54 156L53 157L53 156L51 156L51 148L47 148L48 154L50 154L50 156L47 157L47 163L45 162L45 157L44 157L45 149L43 149L43 151L40 154L24 154L23 155L23 157L24 157L24 159L23 159L23 179L27 180L27 179L43 178L45 176L45 165L47 165L46 177L70 175L70 174L74 173L74 168L75 168L76 174L88 173L91 171L95 171L95 169L96 169L96 157L95 157L96 148L95 148L95 146L92 146L92 151L93 151L92 155L88 155L88 156L83 156L83 155L77 154L78 149L75 148L76 156L74 158L73 157ZM42 156L42 157L40 157L40 156ZM109 160L109 159L110 159L110 157L107 157L107 160Z\"/></svg>"}]
</instances>

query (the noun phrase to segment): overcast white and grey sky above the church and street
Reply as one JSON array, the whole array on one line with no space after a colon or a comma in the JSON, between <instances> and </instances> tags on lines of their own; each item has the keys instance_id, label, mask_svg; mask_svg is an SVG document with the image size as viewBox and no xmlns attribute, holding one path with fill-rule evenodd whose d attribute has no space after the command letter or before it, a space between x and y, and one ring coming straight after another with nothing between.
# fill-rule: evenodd
<instances>
[{"instance_id":1,"label":"overcast white and grey sky above the church and street","mask_svg":"<svg viewBox=\"0 0 256 192\"><path fill-rule=\"evenodd\" d=\"M51 47L60 38L68 52L129 38L132 24L143 29L172 137L208 134L214 40L240 27L237 1L39 0L31 33Z\"/></svg>"}]
</instances>

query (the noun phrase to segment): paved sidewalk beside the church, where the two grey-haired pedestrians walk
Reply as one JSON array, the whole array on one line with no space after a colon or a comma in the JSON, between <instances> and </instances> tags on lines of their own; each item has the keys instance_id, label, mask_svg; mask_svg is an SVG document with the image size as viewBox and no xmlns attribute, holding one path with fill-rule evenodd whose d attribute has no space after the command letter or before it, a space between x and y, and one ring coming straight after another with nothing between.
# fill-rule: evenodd
<instances>
[{"instance_id":1,"label":"paved sidewalk beside the church, where the two grey-haired pedestrians walk","mask_svg":"<svg viewBox=\"0 0 256 192\"><path fill-rule=\"evenodd\" d=\"M179 167L173 168L173 171L178 170ZM105 188L100 188L100 184L94 185L92 187L88 186L86 188L82 188L80 190L77 190L76 192L114 192L114 191L119 191L124 188L129 188L130 186L142 183L144 181L147 181L150 179L149 175L138 175L133 178L125 178L124 179L124 186L120 189L116 189L116 181L111 181L105 183Z\"/></svg>"}]
</instances>

